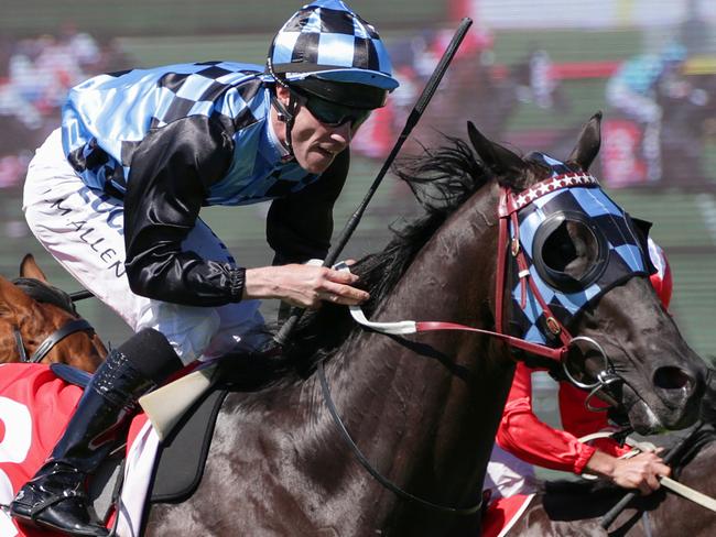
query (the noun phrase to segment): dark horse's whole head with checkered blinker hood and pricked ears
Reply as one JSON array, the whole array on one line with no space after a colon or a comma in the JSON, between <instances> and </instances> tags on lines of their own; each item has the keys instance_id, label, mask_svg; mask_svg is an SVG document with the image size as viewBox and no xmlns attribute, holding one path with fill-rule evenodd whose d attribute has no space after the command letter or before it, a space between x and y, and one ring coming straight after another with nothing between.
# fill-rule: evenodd
<instances>
[{"instance_id":1,"label":"dark horse's whole head with checkered blinker hood and pricked ears","mask_svg":"<svg viewBox=\"0 0 716 537\"><path fill-rule=\"evenodd\" d=\"M600 118L585 125L564 162L541 153L522 158L468 125L480 158L512 185L500 207L510 248L499 300L507 315L498 310L498 322L562 348L565 375L618 405L638 431L683 428L697 417L705 363L650 284L643 226L588 175Z\"/></svg>"}]
</instances>

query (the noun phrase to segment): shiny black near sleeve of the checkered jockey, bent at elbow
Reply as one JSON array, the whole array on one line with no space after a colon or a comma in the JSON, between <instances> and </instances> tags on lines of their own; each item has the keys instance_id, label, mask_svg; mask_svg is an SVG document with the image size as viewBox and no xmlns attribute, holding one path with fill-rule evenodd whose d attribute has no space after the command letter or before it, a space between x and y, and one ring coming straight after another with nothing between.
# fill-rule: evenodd
<instances>
[{"instance_id":1,"label":"shiny black near sleeve of the checkered jockey, bent at elbow","mask_svg":"<svg viewBox=\"0 0 716 537\"><path fill-rule=\"evenodd\" d=\"M153 131L138 146L124 198L127 277L134 293L189 306L241 299L243 268L181 246L232 153L231 136L220 123L199 116Z\"/></svg>"}]
</instances>

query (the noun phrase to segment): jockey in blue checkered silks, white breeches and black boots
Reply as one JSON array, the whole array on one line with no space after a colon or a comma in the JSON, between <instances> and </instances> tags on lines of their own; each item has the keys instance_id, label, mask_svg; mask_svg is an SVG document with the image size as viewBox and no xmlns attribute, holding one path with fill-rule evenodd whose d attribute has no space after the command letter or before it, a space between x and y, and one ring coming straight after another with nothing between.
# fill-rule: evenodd
<instances>
[{"instance_id":1,"label":"jockey in blue checkered silks, white breeches and black boots","mask_svg":"<svg viewBox=\"0 0 716 537\"><path fill-rule=\"evenodd\" d=\"M316 0L278 32L265 68L202 62L100 75L69 92L28 172L33 233L135 335L95 373L45 464L15 496L20 522L107 535L85 481L137 399L199 358L265 341L258 298L359 304L324 257L351 138L398 87L373 29ZM199 218L273 200L272 266L245 268ZM240 262L240 260L239 260Z\"/></svg>"}]
</instances>

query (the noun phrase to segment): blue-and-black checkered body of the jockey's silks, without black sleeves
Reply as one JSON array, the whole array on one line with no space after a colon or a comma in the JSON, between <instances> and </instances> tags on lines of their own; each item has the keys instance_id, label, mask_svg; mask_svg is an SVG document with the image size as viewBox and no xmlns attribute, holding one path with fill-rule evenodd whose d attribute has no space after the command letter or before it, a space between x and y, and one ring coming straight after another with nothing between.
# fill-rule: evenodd
<instances>
[{"instance_id":1,"label":"blue-and-black checkered body of the jockey's silks, without black sleeves","mask_svg":"<svg viewBox=\"0 0 716 537\"><path fill-rule=\"evenodd\" d=\"M204 62L99 75L69 92L63 145L85 184L118 197L139 175L132 169L138 149L143 146L144 157L152 154L149 141L163 153L198 153L211 161L225 153L221 166L208 163L202 169L208 190L203 204L252 204L316 179L295 162L281 161L267 124L269 109L258 65ZM172 136L181 138L178 146Z\"/></svg>"}]
</instances>

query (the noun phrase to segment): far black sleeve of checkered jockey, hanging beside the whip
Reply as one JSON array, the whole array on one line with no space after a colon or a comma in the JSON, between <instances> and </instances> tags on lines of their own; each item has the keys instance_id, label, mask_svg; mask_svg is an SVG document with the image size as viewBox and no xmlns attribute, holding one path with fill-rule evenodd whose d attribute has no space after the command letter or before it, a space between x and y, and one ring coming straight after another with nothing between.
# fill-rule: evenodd
<instances>
[{"instance_id":1,"label":"far black sleeve of checkered jockey, hanging beside the whip","mask_svg":"<svg viewBox=\"0 0 716 537\"><path fill-rule=\"evenodd\" d=\"M267 239L275 252L274 265L324 259L333 233L333 206L350 165L346 149L307 187L275 199L269 209Z\"/></svg>"}]
</instances>

